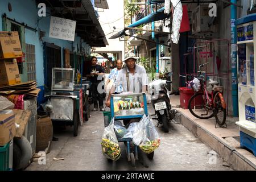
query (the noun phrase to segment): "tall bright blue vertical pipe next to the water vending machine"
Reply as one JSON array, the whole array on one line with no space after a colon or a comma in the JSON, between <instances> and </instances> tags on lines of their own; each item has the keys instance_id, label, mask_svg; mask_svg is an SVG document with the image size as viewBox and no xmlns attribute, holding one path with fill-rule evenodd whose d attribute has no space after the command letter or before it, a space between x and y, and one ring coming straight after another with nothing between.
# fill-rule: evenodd
<instances>
[{"instance_id":1,"label":"tall bright blue vertical pipe next to the water vending machine","mask_svg":"<svg viewBox=\"0 0 256 182\"><path fill-rule=\"evenodd\" d=\"M231 0L231 3L237 3L237 0ZM232 101L233 117L238 117L238 89L237 89L237 6L230 5L231 9L231 67L232 67Z\"/></svg>"}]
</instances>

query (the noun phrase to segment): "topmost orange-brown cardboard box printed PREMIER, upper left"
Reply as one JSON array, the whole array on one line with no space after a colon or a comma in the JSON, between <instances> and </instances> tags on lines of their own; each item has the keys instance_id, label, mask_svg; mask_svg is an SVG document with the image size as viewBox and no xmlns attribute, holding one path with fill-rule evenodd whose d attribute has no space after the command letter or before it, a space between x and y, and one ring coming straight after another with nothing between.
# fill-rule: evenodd
<instances>
[{"instance_id":1,"label":"topmost orange-brown cardboard box printed PREMIER, upper left","mask_svg":"<svg viewBox=\"0 0 256 182\"><path fill-rule=\"evenodd\" d=\"M19 32L0 31L0 59L22 57Z\"/></svg>"}]
</instances>

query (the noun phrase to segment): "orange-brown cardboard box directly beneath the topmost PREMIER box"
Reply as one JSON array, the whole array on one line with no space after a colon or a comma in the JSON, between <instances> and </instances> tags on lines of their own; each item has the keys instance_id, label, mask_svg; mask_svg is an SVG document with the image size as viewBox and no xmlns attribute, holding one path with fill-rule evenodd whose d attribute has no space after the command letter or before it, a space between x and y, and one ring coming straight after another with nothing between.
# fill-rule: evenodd
<instances>
[{"instance_id":1,"label":"orange-brown cardboard box directly beneath the topmost PREMIER box","mask_svg":"<svg viewBox=\"0 0 256 182\"><path fill-rule=\"evenodd\" d=\"M20 83L19 68L15 59L0 60L0 87Z\"/></svg>"}]
</instances>

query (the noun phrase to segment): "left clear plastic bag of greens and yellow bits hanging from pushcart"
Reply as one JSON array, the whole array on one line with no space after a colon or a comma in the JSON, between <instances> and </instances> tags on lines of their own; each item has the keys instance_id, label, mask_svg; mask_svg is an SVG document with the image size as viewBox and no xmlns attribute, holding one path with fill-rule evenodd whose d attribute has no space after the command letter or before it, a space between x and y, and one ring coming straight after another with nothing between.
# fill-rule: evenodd
<instances>
[{"instance_id":1,"label":"left clear plastic bag of greens and yellow bits hanging from pushcart","mask_svg":"<svg viewBox=\"0 0 256 182\"><path fill-rule=\"evenodd\" d=\"M121 149L114 131L114 118L109 123L109 126L104 129L101 150L102 154L108 159L118 160L121 156Z\"/></svg>"}]
</instances>

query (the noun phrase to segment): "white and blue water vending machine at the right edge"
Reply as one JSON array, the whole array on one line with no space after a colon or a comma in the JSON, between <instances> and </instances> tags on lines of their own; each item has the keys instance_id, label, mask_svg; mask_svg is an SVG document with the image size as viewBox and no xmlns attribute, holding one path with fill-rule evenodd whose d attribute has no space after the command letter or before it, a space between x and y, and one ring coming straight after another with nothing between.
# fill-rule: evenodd
<instances>
[{"instance_id":1,"label":"white and blue water vending machine at the right edge","mask_svg":"<svg viewBox=\"0 0 256 182\"><path fill-rule=\"evenodd\" d=\"M237 19L238 108L240 143L256 156L254 49L256 48L256 14ZM232 60L232 63L234 61Z\"/></svg>"}]
</instances>

